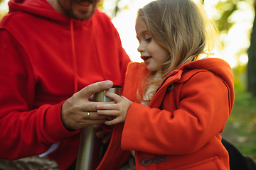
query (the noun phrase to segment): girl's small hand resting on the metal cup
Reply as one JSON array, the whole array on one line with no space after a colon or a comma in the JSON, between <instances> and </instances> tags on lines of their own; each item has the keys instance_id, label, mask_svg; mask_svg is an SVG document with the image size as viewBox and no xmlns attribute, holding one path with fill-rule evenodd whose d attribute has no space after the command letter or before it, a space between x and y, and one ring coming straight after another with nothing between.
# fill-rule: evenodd
<instances>
[{"instance_id":1,"label":"girl's small hand resting on the metal cup","mask_svg":"<svg viewBox=\"0 0 256 170\"><path fill-rule=\"evenodd\" d=\"M117 123L124 122L129 106L132 101L129 101L124 96L119 96L110 92L105 92L105 96L113 98L117 103L115 104L105 104L97 105L97 113L99 115L113 115L116 116L113 120L105 121L106 125L115 125Z\"/></svg>"}]
</instances>

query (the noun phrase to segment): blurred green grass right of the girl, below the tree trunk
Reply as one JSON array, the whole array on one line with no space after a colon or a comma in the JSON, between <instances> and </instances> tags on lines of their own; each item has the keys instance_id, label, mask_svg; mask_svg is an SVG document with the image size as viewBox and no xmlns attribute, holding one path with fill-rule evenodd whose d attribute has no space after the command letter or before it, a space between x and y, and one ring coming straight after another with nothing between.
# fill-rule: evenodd
<instances>
[{"instance_id":1,"label":"blurred green grass right of the girl, below the tree trunk","mask_svg":"<svg viewBox=\"0 0 256 170\"><path fill-rule=\"evenodd\" d=\"M235 104L222 134L242 154L256 162L256 98L252 95L235 89Z\"/></svg>"}]
</instances>

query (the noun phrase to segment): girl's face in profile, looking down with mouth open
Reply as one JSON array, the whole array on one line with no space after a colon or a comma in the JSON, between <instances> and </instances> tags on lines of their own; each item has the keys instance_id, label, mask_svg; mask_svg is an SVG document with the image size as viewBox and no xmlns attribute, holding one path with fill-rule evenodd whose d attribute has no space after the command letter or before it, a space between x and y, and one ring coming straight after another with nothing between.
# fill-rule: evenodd
<instances>
[{"instance_id":1,"label":"girl's face in profile, looking down with mouth open","mask_svg":"<svg viewBox=\"0 0 256 170\"><path fill-rule=\"evenodd\" d=\"M151 38L146 24L140 17L137 18L135 30L137 39L139 40L137 50L141 53L141 58L144 60L146 68L154 72L157 70L157 64L164 62L166 57L169 56L169 52Z\"/></svg>"}]
</instances>

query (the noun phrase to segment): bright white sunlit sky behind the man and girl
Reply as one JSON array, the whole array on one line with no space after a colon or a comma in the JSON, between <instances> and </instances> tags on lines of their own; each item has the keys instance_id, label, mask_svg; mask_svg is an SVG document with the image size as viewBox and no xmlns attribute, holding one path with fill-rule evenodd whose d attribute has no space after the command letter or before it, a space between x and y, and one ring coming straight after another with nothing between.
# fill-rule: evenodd
<instances>
[{"instance_id":1,"label":"bright white sunlit sky behind the man and girl","mask_svg":"<svg viewBox=\"0 0 256 170\"><path fill-rule=\"evenodd\" d=\"M135 33L135 19L137 11L151 0L105 0L102 4L102 11L107 13L112 18L114 26L119 31L124 50L134 62L142 62L137 52L138 42ZM199 0L195 0L199 1ZM209 18L218 20L223 15L223 11L231 8L230 4L225 4L220 9L215 8L220 1L227 0L205 0L204 8L208 13ZM0 14L7 13L9 8L7 0L0 4ZM247 64L247 48L250 46L250 33L252 23L255 16L253 8L253 0L239 1L233 0L237 4L237 10L228 18L228 23L233 23L232 28L228 31L222 31L220 39L223 41L224 49L220 52L215 52L215 57L223 58L231 67L236 67L238 64ZM117 15L114 16L113 11L116 6L119 8Z\"/></svg>"}]
</instances>

